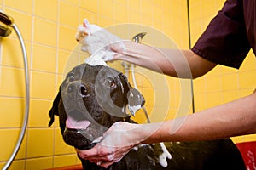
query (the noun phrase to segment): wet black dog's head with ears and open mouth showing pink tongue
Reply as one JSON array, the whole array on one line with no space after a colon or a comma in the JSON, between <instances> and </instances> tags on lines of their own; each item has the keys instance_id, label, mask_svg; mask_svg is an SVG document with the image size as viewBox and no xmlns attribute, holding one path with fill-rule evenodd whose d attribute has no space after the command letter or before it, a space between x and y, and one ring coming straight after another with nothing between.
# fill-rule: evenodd
<instances>
[{"instance_id":1,"label":"wet black dog's head with ears and open mouth showing pink tongue","mask_svg":"<svg viewBox=\"0 0 256 170\"><path fill-rule=\"evenodd\" d=\"M124 74L103 65L78 65L61 84L49 111L49 126L59 116L64 141L90 149L114 122L132 122L127 105L134 114L144 105L144 98Z\"/></svg>"}]
</instances>

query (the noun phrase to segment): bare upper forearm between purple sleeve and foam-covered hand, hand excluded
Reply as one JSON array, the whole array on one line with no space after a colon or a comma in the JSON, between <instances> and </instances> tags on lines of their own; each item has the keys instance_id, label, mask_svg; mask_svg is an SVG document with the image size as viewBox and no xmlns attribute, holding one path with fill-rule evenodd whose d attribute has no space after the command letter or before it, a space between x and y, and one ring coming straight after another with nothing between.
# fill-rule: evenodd
<instances>
[{"instance_id":1,"label":"bare upper forearm between purple sleeve and foam-covered hand, hand excluded","mask_svg":"<svg viewBox=\"0 0 256 170\"><path fill-rule=\"evenodd\" d=\"M202 59L191 50L154 48L130 41L124 44L126 50L119 52L115 59L125 60L172 77L201 77L216 65Z\"/></svg>"}]
</instances>

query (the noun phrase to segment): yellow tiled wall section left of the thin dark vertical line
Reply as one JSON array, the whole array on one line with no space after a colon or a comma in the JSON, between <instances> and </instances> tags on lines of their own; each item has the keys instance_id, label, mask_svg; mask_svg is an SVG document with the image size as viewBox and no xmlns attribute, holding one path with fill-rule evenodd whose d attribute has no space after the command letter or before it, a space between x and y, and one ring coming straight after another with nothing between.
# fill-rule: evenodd
<instances>
[{"instance_id":1,"label":"yellow tiled wall section left of the thin dark vertical line","mask_svg":"<svg viewBox=\"0 0 256 170\"><path fill-rule=\"evenodd\" d=\"M180 47L188 48L185 0L2 0L0 9L15 19L25 40L31 81L26 136L9 169L34 170L79 163L73 148L61 139L58 120L53 127L47 126L48 111L57 94L67 59L77 45L74 38L76 28L84 18L103 27L119 23L150 26L172 37ZM25 87L22 54L15 32L2 38L0 43L2 168L20 133L25 112ZM138 88L145 93L150 112L154 105L151 83L137 75ZM168 78L168 83L178 88L177 80ZM137 120L142 121L143 116L138 116Z\"/></svg>"}]
</instances>

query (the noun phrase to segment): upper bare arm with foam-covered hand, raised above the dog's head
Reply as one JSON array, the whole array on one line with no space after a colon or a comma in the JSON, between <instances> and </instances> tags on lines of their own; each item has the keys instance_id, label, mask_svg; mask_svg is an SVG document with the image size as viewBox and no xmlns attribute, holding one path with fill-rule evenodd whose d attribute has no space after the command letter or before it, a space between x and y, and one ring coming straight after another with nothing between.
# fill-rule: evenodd
<instances>
[{"instance_id":1,"label":"upper bare arm with foam-covered hand, raised above the dog's head","mask_svg":"<svg viewBox=\"0 0 256 170\"><path fill-rule=\"evenodd\" d=\"M164 49L121 40L99 26L90 25L86 19L78 27L76 39L81 49L92 57L105 61L125 60L172 77L200 77L216 65L191 50Z\"/></svg>"}]
</instances>

